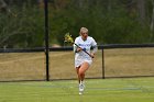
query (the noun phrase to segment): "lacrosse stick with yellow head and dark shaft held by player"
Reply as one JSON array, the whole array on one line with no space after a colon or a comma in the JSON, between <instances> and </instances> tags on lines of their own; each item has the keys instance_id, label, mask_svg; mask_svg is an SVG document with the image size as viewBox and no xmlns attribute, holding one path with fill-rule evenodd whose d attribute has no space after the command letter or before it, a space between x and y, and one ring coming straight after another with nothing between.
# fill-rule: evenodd
<instances>
[{"instance_id":1,"label":"lacrosse stick with yellow head and dark shaft held by player","mask_svg":"<svg viewBox=\"0 0 154 102\"><path fill-rule=\"evenodd\" d=\"M74 38L72 37L72 35L69 34L69 33L66 33L65 34L65 42L68 42L68 43L70 43L70 44L75 44L75 42L74 42ZM79 47L77 44L75 44L78 48L81 48L81 47ZM81 48L82 49L82 48ZM88 54L91 58L94 58L94 56L91 56L88 52L86 52L86 50L84 50L82 49L82 52L85 52L86 54Z\"/></svg>"}]
</instances>

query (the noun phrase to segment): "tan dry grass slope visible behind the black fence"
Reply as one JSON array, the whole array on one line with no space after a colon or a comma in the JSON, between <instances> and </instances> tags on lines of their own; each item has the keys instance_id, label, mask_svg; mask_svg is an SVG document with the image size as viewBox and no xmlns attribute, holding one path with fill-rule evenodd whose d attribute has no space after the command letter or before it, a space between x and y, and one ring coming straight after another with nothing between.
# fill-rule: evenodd
<instances>
[{"instance_id":1,"label":"tan dry grass slope visible behind the black fence","mask_svg":"<svg viewBox=\"0 0 154 102\"><path fill-rule=\"evenodd\" d=\"M106 77L154 76L154 48L105 49ZM44 53L1 53L0 81L45 80ZM99 50L87 78L102 77ZM50 52L50 79L76 78L73 52Z\"/></svg>"}]
</instances>

